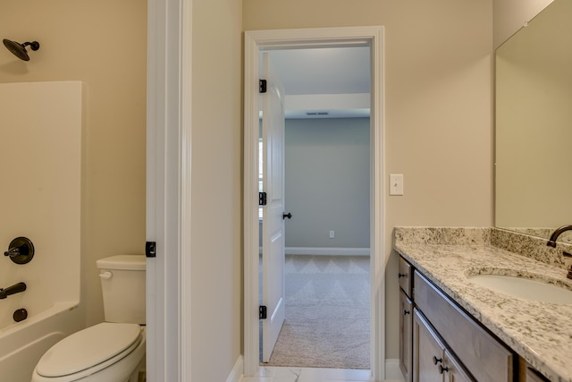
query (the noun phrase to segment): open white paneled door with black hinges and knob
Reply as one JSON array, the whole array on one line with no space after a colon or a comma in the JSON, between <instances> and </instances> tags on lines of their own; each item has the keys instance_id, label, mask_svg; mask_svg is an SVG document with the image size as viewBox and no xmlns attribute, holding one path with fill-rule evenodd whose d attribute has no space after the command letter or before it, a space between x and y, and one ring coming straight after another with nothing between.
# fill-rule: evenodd
<instances>
[{"instance_id":1,"label":"open white paneled door with black hinges and knob","mask_svg":"<svg viewBox=\"0 0 572 382\"><path fill-rule=\"evenodd\" d=\"M267 53L263 54L262 93L263 189L262 220L262 361L270 361L285 315L284 298L284 92Z\"/></svg>"}]
</instances>

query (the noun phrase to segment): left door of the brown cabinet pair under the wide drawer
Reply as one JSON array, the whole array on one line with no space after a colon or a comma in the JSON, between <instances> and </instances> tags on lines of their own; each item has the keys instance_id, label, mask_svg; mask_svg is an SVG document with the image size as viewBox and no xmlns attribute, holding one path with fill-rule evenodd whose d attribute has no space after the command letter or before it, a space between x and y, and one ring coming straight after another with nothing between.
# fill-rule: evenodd
<instances>
[{"instance_id":1,"label":"left door of the brown cabinet pair under the wide drawer","mask_svg":"<svg viewBox=\"0 0 572 382\"><path fill-rule=\"evenodd\" d=\"M439 366L445 356L445 347L425 318L413 310L413 381L443 382Z\"/></svg>"}]
</instances>

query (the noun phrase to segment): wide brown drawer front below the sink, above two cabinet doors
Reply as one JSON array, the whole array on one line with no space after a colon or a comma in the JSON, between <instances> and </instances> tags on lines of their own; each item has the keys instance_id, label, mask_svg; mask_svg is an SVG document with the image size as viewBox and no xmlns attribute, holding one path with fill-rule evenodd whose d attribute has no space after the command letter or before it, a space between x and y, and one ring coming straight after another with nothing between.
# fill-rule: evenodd
<instances>
[{"instance_id":1,"label":"wide brown drawer front below the sink, above two cabinet doors","mask_svg":"<svg viewBox=\"0 0 572 382\"><path fill-rule=\"evenodd\" d=\"M417 271L415 303L479 382L513 380L513 353Z\"/></svg>"}]
</instances>

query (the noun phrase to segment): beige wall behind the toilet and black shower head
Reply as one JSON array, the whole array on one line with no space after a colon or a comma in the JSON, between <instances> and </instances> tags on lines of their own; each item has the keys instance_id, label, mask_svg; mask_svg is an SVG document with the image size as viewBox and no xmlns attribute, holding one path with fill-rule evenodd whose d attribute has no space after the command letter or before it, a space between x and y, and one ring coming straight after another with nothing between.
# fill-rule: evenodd
<instances>
[{"instance_id":1,"label":"beige wall behind the toilet and black shower head","mask_svg":"<svg viewBox=\"0 0 572 382\"><path fill-rule=\"evenodd\" d=\"M96 259L144 250L147 4L4 0L0 10L2 38L41 44L28 63L1 46L0 82L85 83L82 301L95 324L103 319Z\"/></svg>"}]
</instances>

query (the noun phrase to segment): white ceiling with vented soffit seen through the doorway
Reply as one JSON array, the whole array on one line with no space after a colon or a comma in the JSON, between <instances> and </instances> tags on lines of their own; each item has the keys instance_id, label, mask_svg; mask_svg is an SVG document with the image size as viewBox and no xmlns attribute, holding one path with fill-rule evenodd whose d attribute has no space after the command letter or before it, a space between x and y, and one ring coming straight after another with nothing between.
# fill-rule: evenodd
<instances>
[{"instance_id":1,"label":"white ceiling with vented soffit seen through the doorway","mask_svg":"<svg viewBox=\"0 0 572 382\"><path fill-rule=\"evenodd\" d=\"M286 118L369 116L369 47L269 51L286 94Z\"/></svg>"}]
</instances>

